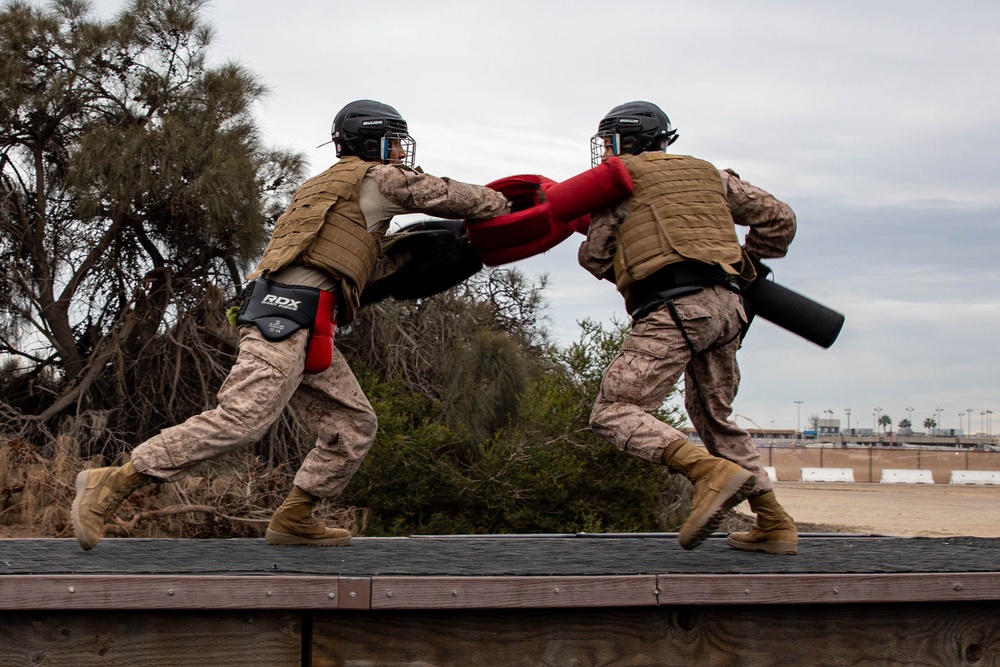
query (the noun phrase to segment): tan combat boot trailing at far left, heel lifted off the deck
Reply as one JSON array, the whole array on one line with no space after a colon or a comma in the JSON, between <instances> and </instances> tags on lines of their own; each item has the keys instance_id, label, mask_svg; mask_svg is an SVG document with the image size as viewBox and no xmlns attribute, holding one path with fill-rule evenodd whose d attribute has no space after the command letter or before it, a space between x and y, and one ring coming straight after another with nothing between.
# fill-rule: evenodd
<instances>
[{"instance_id":1,"label":"tan combat boot trailing at far left, heel lifted off the deck","mask_svg":"<svg viewBox=\"0 0 1000 667\"><path fill-rule=\"evenodd\" d=\"M85 550L93 549L104 534L104 524L126 498L155 480L137 472L129 461L111 468L83 470L76 476L73 499L73 532Z\"/></svg>"}]
</instances>

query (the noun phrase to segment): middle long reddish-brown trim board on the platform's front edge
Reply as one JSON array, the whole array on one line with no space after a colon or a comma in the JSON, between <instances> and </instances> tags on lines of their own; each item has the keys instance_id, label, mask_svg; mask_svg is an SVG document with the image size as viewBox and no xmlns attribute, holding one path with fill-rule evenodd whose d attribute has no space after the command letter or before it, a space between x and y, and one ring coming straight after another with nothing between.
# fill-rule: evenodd
<instances>
[{"instance_id":1,"label":"middle long reddish-brown trim board on the platform's front edge","mask_svg":"<svg viewBox=\"0 0 1000 667\"><path fill-rule=\"evenodd\" d=\"M635 607L656 604L656 577L373 577L372 609Z\"/></svg>"}]
</instances>

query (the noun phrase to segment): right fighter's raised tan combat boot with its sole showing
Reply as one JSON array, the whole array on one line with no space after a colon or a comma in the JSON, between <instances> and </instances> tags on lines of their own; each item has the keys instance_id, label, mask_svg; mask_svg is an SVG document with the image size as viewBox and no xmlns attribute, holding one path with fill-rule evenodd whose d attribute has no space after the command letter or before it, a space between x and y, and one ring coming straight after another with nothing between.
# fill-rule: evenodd
<instances>
[{"instance_id":1,"label":"right fighter's raised tan combat boot with its sole showing","mask_svg":"<svg viewBox=\"0 0 1000 667\"><path fill-rule=\"evenodd\" d=\"M706 454L686 440L668 446L663 462L671 472L679 472L694 484L691 514L678 535L685 549L694 549L704 542L722 522L726 511L743 502L755 483L750 471Z\"/></svg>"}]
</instances>

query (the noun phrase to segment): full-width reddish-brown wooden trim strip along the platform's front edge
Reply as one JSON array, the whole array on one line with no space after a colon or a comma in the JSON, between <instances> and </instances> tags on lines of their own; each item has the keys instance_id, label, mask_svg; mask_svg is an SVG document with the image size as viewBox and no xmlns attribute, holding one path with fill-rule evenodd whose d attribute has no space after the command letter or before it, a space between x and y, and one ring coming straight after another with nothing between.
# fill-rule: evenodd
<instances>
[{"instance_id":1,"label":"full-width reddish-brown wooden trim strip along the platform's front edge","mask_svg":"<svg viewBox=\"0 0 1000 667\"><path fill-rule=\"evenodd\" d=\"M0 610L500 609L1000 600L1000 572L620 577L0 577Z\"/></svg>"}]
</instances>

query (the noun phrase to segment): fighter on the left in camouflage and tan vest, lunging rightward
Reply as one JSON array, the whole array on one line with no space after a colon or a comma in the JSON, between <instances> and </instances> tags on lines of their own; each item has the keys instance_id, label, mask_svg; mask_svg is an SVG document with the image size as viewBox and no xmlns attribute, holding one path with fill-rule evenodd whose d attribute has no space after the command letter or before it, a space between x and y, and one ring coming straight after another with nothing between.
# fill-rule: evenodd
<instances>
[{"instance_id":1,"label":"fighter on the left in camouflage and tan vest, lunging rightward","mask_svg":"<svg viewBox=\"0 0 1000 667\"><path fill-rule=\"evenodd\" d=\"M394 215L477 220L508 211L507 200L493 190L406 166L412 165L414 143L392 107L371 100L347 105L334 121L333 141L341 159L299 188L250 277L335 293L341 325L353 319L365 283L394 268L381 254ZM271 519L267 539L348 544L347 530L323 526L312 509L319 498L336 497L347 486L372 445L377 419L336 348L329 368L305 372L309 336L300 329L275 342L256 326L241 326L239 355L214 409L142 443L121 468L81 472L72 512L81 546L97 543L108 518L136 488L176 482L200 462L255 442L286 405L317 438Z\"/></svg>"}]
</instances>

